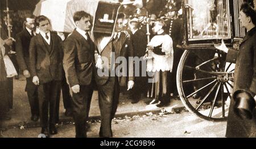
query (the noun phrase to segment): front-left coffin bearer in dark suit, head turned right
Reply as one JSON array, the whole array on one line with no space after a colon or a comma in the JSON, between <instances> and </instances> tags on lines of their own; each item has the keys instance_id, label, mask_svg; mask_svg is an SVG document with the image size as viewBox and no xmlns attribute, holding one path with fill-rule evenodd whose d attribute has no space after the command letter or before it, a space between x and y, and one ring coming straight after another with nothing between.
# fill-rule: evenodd
<instances>
[{"instance_id":1,"label":"front-left coffin bearer in dark suit, head turned right","mask_svg":"<svg viewBox=\"0 0 256 149\"><path fill-rule=\"evenodd\" d=\"M72 109L76 137L86 137L90 101L94 84L94 44L89 36L90 15L77 11L73 15L77 28L64 42L63 65L69 87L72 90Z\"/></svg>"}]
</instances>

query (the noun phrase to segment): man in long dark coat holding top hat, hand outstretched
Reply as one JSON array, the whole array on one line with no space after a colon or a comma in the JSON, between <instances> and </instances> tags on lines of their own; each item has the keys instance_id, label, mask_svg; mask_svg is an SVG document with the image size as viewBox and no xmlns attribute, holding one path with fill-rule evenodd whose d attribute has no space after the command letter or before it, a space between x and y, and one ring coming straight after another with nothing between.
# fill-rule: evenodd
<instances>
[{"instance_id":1,"label":"man in long dark coat holding top hat, hand outstretched","mask_svg":"<svg viewBox=\"0 0 256 149\"><path fill-rule=\"evenodd\" d=\"M239 50L228 49L223 40L220 46L215 46L228 53L227 61L236 63L226 137L256 137L256 10L243 3L239 19L241 26L247 30ZM248 107L251 107L250 112Z\"/></svg>"}]
</instances>

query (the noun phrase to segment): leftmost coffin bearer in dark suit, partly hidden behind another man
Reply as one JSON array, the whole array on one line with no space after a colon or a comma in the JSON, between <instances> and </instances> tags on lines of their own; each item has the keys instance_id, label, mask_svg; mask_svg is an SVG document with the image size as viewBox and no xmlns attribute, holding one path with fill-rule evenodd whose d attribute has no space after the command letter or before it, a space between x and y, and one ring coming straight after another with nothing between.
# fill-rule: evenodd
<instances>
[{"instance_id":1,"label":"leftmost coffin bearer in dark suit, partly hidden behind another man","mask_svg":"<svg viewBox=\"0 0 256 149\"><path fill-rule=\"evenodd\" d=\"M37 86L32 82L30 70L28 70L30 40L36 35L34 23L35 19L33 16L29 16L24 20L25 28L16 35L15 47L19 68L27 80L25 91L27 92L28 101L30 103L31 120L38 121L39 108Z\"/></svg>"}]
</instances>

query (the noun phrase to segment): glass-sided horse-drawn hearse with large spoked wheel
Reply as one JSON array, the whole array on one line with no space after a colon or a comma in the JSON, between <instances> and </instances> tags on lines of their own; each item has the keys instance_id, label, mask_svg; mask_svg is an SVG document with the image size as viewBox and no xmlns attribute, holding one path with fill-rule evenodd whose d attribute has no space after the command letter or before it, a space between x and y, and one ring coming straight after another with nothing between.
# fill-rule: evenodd
<instances>
[{"instance_id":1,"label":"glass-sided horse-drawn hearse with large spoked wheel","mask_svg":"<svg viewBox=\"0 0 256 149\"><path fill-rule=\"evenodd\" d=\"M214 48L224 39L237 49L245 36L239 21L242 0L184 0L184 53L177 68L177 90L185 107L209 121L228 116L234 63Z\"/></svg>"}]
</instances>

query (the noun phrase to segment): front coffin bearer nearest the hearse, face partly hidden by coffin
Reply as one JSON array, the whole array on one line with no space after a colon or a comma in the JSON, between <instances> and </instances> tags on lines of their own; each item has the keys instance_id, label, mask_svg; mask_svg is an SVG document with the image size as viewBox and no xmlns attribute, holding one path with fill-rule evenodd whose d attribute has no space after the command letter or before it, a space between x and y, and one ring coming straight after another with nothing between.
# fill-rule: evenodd
<instances>
[{"instance_id":1,"label":"front coffin bearer nearest the hearse, face partly hidden by coffin","mask_svg":"<svg viewBox=\"0 0 256 149\"><path fill-rule=\"evenodd\" d=\"M119 87L126 86L127 77L119 74L117 71L119 66L122 67L122 73L126 73L123 65L115 65L118 58L133 57L133 46L131 41L126 37L125 33L121 32L123 27L124 14L118 14L115 23L115 34L112 40L108 42L105 48L101 51L100 55L104 61L103 69L98 69L96 83L98 87L99 105L101 111L101 127L100 137L112 137L111 122L115 116L119 100ZM116 59L115 59L116 58ZM98 61L97 61L98 62ZM98 66L98 63L96 64ZM115 71L117 70L117 71ZM102 75L102 71L108 75ZM117 74L118 73L118 74ZM133 61L129 61L129 82L128 89L134 86L133 77ZM118 77L119 76L119 77Z\"/></svg>"}]
</instances>

